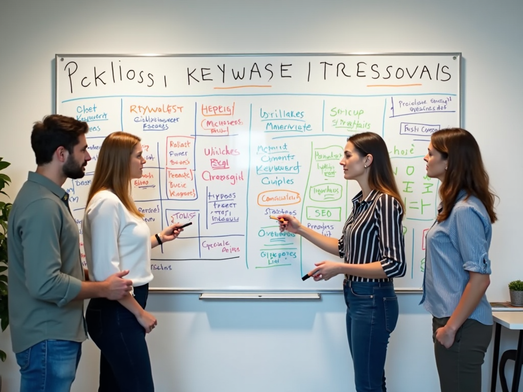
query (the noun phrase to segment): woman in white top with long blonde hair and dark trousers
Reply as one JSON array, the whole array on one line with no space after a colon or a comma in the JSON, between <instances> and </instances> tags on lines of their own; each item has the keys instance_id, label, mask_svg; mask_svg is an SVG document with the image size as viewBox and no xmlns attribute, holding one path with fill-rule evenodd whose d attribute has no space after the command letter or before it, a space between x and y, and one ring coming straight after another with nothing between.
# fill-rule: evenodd
<instances>
[{"instance_id":1,"label":"woman in white top with long blonde hair and dark trousers","mask_svg":"<svg viewBox=\"0 0 523 392\"><path fill-rule=\"evenodd\" d=\"M101 145L82 224L89 278L103 281L129 271L133 291L119 301L93 298L86 312L89 336L100 354L99 392L154 391L145 333L156 326L146 312L151 248L172 241L183 229L174 224L151 236L131 198L131 180L142 177L140 138L111 133Z\"/></svg>"}]
</instances>

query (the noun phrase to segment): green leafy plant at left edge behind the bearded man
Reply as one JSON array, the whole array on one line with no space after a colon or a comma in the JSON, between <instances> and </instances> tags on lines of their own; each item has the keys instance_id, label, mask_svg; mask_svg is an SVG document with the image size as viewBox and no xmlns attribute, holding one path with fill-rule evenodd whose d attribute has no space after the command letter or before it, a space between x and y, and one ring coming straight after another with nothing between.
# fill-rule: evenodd
<instances>
[{"instance_id":1,"label":"green leafy plant at left edge behind the bearded man","mask_svg":"<svg viewBox=\"0 0 523 392\"><path fill-rule=\"evenodd\" d=\"M0 157L0 171L10 165ZM9 185L11 179L3 173L0 173L0 193L7 196L3 191L6 185ZM11 210L11 203L0 201L0 328L5 331L9 325L9 313L7 312L7 217ZM5 361L6 353L0 350L0 359ZM1 382L1 381L0 381Z\"/></svg>"}]
</instances>

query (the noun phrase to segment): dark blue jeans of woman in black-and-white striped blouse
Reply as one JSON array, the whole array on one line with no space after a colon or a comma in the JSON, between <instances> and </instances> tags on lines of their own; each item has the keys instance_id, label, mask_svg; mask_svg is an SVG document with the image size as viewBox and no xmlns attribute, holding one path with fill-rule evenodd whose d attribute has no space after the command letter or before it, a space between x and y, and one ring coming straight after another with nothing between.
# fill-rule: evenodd
<instances>
[{"instance_id":1,"label":"dark blue jeans of woman in black-and-white striped blouse","mask_svg":"<svg viewBox=\"0 0 523 392\"><path fill-rule=\"evenodd\" d=\"M385 392L385 355L399 307L392 282L343 283L357 392Z\"/></svg>"}]
</instances>

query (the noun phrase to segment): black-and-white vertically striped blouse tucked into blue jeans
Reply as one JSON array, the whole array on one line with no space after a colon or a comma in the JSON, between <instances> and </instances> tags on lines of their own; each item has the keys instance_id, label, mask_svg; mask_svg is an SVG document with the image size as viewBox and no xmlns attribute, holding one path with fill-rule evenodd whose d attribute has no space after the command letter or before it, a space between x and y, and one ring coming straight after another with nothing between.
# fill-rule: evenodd
<instances>
[{"instance_id":1,"label":"black-and-white vertically striped blouse tucked into blue jeans","mask_svg":"<svg viewBox=\"0 0 523 392\"><path fill-rule=\"evenodd\" d=\"M355 282L387 282L401 278L406 272L405 241L403 238L403 209L391 195L372 190L359 201L353 201L353 211L343 227L338 241L339 257L350 264L379 261L388 278L370 279L348 275Z\"/></svg>"}]
</instances>

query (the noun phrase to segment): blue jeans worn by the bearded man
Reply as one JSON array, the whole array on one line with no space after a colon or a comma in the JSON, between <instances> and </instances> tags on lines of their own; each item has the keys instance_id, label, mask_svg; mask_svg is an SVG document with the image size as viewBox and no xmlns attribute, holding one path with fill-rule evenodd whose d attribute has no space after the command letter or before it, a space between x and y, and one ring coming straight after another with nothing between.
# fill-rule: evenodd
<instances>
[{"instance_id":1,"label":"blue jeans worn by the bearded man","mask_svg":"<svg viewBox=\"0 0 523 392\"><path fill-rule=\"evenodd\" d=\"M81 342L52 339L17 353L20 392L70 392L81 355Z\"/></svg>"}]
</instances>

